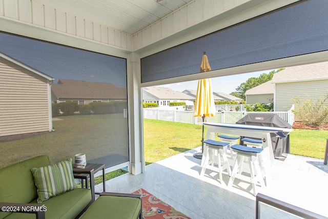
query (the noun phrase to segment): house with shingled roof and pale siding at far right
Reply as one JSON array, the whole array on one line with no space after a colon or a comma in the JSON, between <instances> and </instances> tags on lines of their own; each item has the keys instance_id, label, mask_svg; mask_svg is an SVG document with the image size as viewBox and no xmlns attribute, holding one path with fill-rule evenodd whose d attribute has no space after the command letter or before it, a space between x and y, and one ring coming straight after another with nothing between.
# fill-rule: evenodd
<instances>
[{"instance_id":1,"label":"house with shingled roof and pale siding at far right","mask_svg":"<svg viewBox=\"0 0 328 219\"><path fill-rule=\"evenodd\" d=\"M275 85L275 111L289 110L296 97L320 99L328 94L328 62L286 68L275 73L272 81Z\"/></svg>"}]
</instances>

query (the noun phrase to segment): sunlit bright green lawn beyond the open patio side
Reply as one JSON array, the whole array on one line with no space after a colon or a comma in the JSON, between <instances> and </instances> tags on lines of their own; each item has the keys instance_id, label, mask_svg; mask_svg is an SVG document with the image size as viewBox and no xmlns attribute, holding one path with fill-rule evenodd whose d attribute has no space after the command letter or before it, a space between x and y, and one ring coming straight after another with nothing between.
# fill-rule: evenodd
<instances>
[{"instance_id":1,"label":"sunlit bright green lawn beyond the open patio side","mask_svg":"<svg viewBox=\"0 0 328 219\"><path fill-rule=\"evenodd\" d=\"M327 130L294 129L290 133L291 153L323 159L327 138ZM200 141L199 125L144 119L147 164L198 147Z\"/></svg>"}]
</instances>

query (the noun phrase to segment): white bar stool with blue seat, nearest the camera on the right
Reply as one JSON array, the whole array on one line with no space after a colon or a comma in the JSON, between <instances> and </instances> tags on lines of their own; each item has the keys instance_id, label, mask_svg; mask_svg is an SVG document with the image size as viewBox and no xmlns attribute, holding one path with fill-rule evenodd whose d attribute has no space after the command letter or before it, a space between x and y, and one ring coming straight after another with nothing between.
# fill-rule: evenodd
<instances>
[{"instance_id":1,"label":"white bar stool with blue seat, nearest the camera on the right","mask_svg":"<svg viewBox=\"0 0 328 219\"><path fill-rule=\"evenodd\" d=\"M261 168L258 162L258 155L263 151L263 148L253 148L243 145L233 145L231 148L234 150L234 152L237 153L237 158L232 169L228 186L232 186L235 178L239 178L242 181L246 181L252 184L253 193L256 196L256 184L260 183L261 187L265 186ZM244 162L244 158L248 158L247 163L249 164L249 171L251 174L250 177L241 174L243 172L242 164Z\"/></svg>"}]
</instances>

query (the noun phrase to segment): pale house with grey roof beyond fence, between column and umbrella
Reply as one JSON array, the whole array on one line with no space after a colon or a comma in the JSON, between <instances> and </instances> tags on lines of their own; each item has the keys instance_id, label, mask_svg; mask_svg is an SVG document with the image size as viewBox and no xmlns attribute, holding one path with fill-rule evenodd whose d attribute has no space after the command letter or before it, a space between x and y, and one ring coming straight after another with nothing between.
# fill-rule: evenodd
<instances>
[{"instance_id":1,"label":"pale house with grey roof beyond fence, between column and umbrella","mask_svg":"<svg viewBox=\"0 0 328 219\"><path fill-rule=\"evenodd\" d=\"M174 91L170 88L162 87L146 87L142 88L142 102L156 103L158 107L170 106L170 102L186 102L194 101L195 98L182 93Z\"/></svg>"}]
</instances>

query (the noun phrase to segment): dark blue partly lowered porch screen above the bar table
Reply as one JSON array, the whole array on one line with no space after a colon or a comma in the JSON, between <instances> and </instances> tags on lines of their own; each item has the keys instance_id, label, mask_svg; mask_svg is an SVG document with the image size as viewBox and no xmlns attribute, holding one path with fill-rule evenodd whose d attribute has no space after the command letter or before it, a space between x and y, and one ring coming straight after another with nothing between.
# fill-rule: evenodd
<instances>
[{"instance_id":1,"label":"dark blue partly lowered porch screen above the bar table","mask_svg":"<svg viewBox=\"0 0 328 219\"><path fill-rule=\"evenodd\" d=\"M141 59L141 82L328 50L328 1L300 1Z\"/></svg>"}]
</instances>

